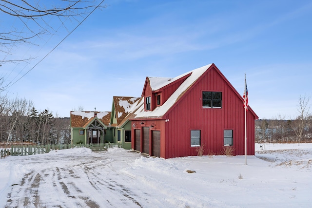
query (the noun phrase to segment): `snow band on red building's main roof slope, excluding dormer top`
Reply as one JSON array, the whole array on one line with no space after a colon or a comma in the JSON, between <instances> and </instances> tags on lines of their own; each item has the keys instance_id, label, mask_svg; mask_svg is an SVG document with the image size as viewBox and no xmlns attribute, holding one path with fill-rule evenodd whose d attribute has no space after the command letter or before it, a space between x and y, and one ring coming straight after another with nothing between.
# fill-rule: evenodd
<instances>
[{"instance_id":1,"label":"snow band on red building's main roof slope, excluding dormer top","mask_svg":"<svg viewBox=\"0 0 312 208\"><path fill-rule=\"evenodd\" d=\"M138 113L135 118L139 117L159 117L164 115L175 103L176 100L182 95L193 83L200 77L202 76L211 66L212 64L208 64L202 67L199 67L197 69L194 69L190 72L184 73L180 76L176 76L173 78L174 80L177 80L183 76L186 76L190 73L192 73L177 89L176 91L168 98L168 100L159 107L156 107L153 111L142 111Z\"/></svg>"}]
</instances>

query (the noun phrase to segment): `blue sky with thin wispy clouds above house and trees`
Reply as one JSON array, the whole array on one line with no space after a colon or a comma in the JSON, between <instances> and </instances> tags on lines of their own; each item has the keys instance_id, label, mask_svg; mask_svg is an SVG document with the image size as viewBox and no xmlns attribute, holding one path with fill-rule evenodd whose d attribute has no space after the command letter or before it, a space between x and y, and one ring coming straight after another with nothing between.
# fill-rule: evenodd
<instances>
[{"instance_id":1,"label":"blue sky with thin wispy clouds above house and trees","mask_svg":"<svg viewBox=\"0 0 312 208\"><path fill-rule=\"evenodd\" d=\"M16 48L14 56L36 58L2 64L6 83L23 77L1 95L31 99L60 117L78 106L111 111L114 95L141 96L146 76L175 77L210 63L241 95L246 73L249 105L260 119L294 118L300 95L312 95L310 0L104 3L25 76L78 22Z\"/></svg>"}]
</instances>

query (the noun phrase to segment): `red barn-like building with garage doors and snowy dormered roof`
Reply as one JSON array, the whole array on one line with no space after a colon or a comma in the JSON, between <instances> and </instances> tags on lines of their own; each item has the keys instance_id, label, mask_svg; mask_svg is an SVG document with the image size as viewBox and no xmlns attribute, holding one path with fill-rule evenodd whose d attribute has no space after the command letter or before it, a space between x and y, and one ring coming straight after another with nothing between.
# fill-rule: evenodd
<instances>
[{"instance_id":1,"label":"red barn-like building with garage doors and snowy dormered roof","mask_svg":"<svg viewBox=\"0 0 312 208\"><path fill-rule=\"evenodd\" d=\"M233 146L245 154L243 98L215 64L175 78L146 77L144 105L132 122L132 149L162 158L222 154ZM254 121L247 111L247 154L254 155Z\"/></svg>"}]
</instances>

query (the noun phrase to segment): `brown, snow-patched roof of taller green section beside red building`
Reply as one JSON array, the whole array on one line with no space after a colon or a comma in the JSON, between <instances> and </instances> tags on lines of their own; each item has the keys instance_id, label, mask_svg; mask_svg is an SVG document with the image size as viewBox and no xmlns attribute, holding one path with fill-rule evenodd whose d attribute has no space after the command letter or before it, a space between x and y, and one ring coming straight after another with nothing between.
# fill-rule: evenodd
<instances>
[{"instance_id":1,"label":"brown, snow-patched roof of taller green section beside red building","mask_svg":"<svg viewBox=\"0 0 312 208\"><path fill-rule=\"evenodd\" d=\"M120 126L122 120L124 120L129 113L132 113L134 111L132 107L139 99L140 97L113 97L114 108L112 109L112 111L115 111L116 113L117 126ZM114 113L112 114L112 116L114 116Z\"/></svg>"}]
</instances>

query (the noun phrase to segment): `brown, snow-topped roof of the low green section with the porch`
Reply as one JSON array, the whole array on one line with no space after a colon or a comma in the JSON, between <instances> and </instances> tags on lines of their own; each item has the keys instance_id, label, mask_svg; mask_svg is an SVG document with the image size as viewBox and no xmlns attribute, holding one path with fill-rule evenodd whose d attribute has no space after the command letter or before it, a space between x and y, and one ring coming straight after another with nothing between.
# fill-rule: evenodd
<instances>
[{"instance_id":1,"label":"brown, snow-topped roof of the low green section with the porch","mask_svg":"<svg viewBox=\"0 0 312 208\"><path fill-rule=\"evenodd\" d=\"M72 128L83 128L94 120L94 114L105 126L109 126L111 112L94 112L94 111L71 111L70 121Z\"/></svg>"}]
</instances>

